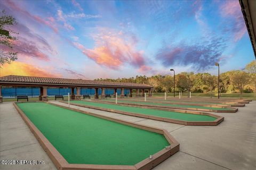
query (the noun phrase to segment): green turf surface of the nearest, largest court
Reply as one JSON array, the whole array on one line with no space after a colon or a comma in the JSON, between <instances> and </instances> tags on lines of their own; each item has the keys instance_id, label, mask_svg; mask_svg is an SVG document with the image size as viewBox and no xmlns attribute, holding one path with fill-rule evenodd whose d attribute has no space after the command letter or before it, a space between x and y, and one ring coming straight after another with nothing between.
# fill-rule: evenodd
<instances>
[{"instance_id":1,"label":"green turf surface of the nearest, largest court","mask_svg":"<svg viewBox=\"0 0 256 170\"><path fill-rule=\"evenodd\" d=\"M71 164L135 165L169 146L162 134L46 103L18 103Z\"/></svg>"}]
</instances>

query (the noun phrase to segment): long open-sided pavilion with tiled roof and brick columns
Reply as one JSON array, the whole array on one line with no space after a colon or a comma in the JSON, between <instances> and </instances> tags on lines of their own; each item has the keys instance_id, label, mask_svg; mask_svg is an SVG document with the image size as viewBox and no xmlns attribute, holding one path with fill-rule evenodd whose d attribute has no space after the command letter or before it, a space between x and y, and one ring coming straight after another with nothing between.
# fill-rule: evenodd
<instances>
[{"instance_id":1,"label":"long open-sided pavilion with tiled roof and brick columns","mask_svg":"<svg viewBox=\"0 0 256 170\"><path fill-rule=\"evenodd\" d=\"M94 88L94 98L98 99L98 89L101 88L101 98L105 98L105 89L114 89L116 94L117 89L121 89L121 98L124 97L124 89L130 89L129 97L132 97L132 90L136 89L136 97L143 96L144 92L148 91L148 96L151 97L153 86L139 83L122 83L108 81L94 81L82 79L62 79L62 78L44 78L44 77L28 77L20 75L7 75L0 77L0 103L3 101L1 95L2 87L39 87L39 100L47 101L47 88L71 88L71 99L81 99L81 88ZM76 88L76 95L75 95Z\"/></svg>"}]
</instances>

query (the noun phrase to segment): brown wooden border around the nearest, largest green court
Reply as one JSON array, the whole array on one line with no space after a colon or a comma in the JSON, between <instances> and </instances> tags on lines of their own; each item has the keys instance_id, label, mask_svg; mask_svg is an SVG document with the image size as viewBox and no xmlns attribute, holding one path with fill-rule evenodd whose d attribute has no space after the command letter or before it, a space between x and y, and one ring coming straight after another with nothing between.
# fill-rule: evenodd
<instances>
[{"instance_id":1,"label":"brown wooden border around the nearest, largest green court","mask_svg":"<svg viewBox=\"0 0 256 170\"><path fill-rule=\"evenodd\" d=\"M65 158L59 153L59 151L51 144L49 140L43 135L41 131L37 129L37 127L34 125L33 122L29 120L29 118L26 116L26 114L19 108L17 103L33 103L33 102L42 102L51 104L54 106L62 107L65 109L69 109L71 111L76 111L79 113L91 115L94 117L103 118L109 121L121 123L124 125L132 126L134 128L139 128L146 131L151 131L159 134L163 134L166 140L170 143L170 146L167 146L167 148L162 149L161 151L158 151L156 154L152 155L152 158L146 158L142 160L141 162L135 164L134 166L130 165L92 165L92 164L69 164ZM13 103L15 109L17 109L18 113L22 117L22 119L25 121L25 123L28 125L30 131L35 135L36 139L42 146L42 148L45 150L46 154L51 158L53 164L57 167L57 169L60 170L78 170L78 169L91 169L91 170L144 170L144 169L151 169L157 166L158 164L162 163L165 159L169 158L173 154L179 151L180 144L170 135L169 132L167 132L164 129L154 128L152 126L148 125L141 125L129 121L123 121L119 120L118 118L112 118L108 116L98 115L90 112L80 111L78 109L66 107L66 106L60 106L57 104L44 102L44 101L20 101L20 102L14 102Z\"/></svg>"}]
</instances>

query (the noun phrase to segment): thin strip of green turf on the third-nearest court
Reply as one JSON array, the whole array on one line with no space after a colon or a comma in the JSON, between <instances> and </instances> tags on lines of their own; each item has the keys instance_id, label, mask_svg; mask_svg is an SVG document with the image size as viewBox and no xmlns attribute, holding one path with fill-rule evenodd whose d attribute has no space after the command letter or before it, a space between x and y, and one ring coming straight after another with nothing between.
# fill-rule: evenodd
<instances>
[{"instance_id":1,"label":"thin strip of green turf on the third-nearest court","mask_svg":"<svg viewBox=\"0 0 256 170\"><path fill-rule=\"evenodd\" d=\"M107 99L106 99L107 100ZM204 106L194 106L194 105L180 105L180 104L171 104L171 103L152 103L147 101L134 101L134 100L118 100L119 103L130 103L130 104L142 104L142 105L156 105L156 106L173 106L173 107L184 107L184 108L202 108L202 109L211 109L216 111L231 111L230 108L220 108L220 107L204 107Z\"/></svg>"}]
</instances>

